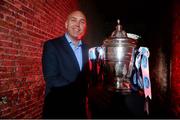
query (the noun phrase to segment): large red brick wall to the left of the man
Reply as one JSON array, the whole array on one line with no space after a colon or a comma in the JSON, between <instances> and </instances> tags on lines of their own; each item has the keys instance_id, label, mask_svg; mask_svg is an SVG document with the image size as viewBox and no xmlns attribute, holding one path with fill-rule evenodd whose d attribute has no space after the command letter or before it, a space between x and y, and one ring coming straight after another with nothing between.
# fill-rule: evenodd
<instances>
[{"instance_id":1,"label":"large red brick wall to the left of the man","mask_svg":"<svg viewBox=\"0 0 180 120\"><path fill-rule=\"evenodd\" d=\"M62 35L76 0L0 0L0 118L41 118L44 41Z\"/></svg>"}]
</instances>

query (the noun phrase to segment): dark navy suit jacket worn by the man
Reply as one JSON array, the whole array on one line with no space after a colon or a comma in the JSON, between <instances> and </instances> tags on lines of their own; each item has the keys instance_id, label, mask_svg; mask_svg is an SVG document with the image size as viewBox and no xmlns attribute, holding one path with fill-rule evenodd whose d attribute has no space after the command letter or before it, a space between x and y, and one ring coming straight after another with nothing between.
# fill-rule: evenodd
<instances>
[{"instance_id":1,"label":"dark navy suit jacket worn by the man","mask_svg":"<svg viewBox=\"0 0 180 120\"><path fill-rule=\"evenodd\" d=\"M82 55L83 68L80 71L65 36L44 43L42 64L46 81L45 118L81 118L83 109L79 108L85 107L88 73L88 48L84 43Z\"/></svg>"}]
</instances>

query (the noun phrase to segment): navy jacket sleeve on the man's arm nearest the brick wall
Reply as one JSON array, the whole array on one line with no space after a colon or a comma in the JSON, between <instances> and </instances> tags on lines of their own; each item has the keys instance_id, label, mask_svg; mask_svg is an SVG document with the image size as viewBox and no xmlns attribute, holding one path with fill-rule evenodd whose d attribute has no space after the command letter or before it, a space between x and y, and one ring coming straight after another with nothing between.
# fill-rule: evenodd
<instances>
[{"instance_id":1,"label":"navy jacket sleeve on the man's arm nearest the brick wall","mask_svg":"<svg viewBox=\"0 0 180 120\"><path fill-rule=\"evenodd\" d=\"M51 41L45 42L42 55L42 69L44 80L46 81L46 95L50 92L52 87L59 87L67 84L66 80L58 68L60 66L60 59L57 58L57 51Z\"/></svg>"}]
</instances>

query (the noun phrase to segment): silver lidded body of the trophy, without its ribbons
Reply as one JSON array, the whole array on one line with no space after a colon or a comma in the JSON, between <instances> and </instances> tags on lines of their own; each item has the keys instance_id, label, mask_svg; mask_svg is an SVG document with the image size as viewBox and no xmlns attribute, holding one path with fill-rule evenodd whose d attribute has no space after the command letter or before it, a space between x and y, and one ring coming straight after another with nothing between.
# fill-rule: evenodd
<instances>
[{"instance_id":1,"label":"silver lidded body of the trophy, without its ribbons","mask_svg":"<svg viewBox=\"0 0 180 120\"><path fill-rule=\"evenodd\" d=\"M131 92L131 75L137 40L140 37L122 30L119 23L111 36L103 41L104 85L110 91Z\"/></svg>"}]
</instances>

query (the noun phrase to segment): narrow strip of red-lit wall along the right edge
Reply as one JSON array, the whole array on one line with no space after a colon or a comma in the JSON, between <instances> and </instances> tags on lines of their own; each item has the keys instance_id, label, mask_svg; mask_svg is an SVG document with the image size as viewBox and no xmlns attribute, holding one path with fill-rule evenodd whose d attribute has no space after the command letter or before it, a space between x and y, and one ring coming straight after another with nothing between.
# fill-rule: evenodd
<instances>
[{"instance_id":1,"label":"narrow strip of red-lit wall along the right edge","mask_svg":"<svg viewBox=\"0 0 180 120\"><path fill-rule=\"evenodd\" d=\"M171 93L173 113L180 118L180 1L174 0Z\"/></svg>"}]
</instances>

